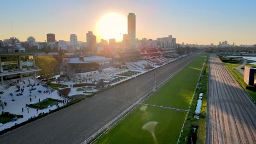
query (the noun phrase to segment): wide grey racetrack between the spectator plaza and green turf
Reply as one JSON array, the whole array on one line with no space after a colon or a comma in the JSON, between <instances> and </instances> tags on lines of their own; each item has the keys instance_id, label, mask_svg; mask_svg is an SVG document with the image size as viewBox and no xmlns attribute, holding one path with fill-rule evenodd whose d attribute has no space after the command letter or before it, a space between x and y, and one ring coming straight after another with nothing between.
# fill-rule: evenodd
<instances>
[{"instance_id":1,"label":"wide grey racetrack between the spectator plaza and green turf","mask_svg":"<svg viewBox=\"0 0 256 144\"><path fill-rule=\"evenodd\" d=\"M156 69L156 83L197 54ZM0 143L81 143L153 89L154 71L0 136Z\"/></svg>"}]
</instances>

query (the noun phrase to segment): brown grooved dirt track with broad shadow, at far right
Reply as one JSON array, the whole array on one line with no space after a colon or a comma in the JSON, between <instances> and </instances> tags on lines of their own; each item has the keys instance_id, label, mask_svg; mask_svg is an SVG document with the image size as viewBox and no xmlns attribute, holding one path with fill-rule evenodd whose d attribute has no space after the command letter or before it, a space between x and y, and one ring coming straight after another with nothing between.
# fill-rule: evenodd
<instances>
[{"instance_id":1,"label":"brown grooved dirt track with broad shadow, at far right","mask_svg":"<svg viewBox=\"0 0 256 144\"><path fill-rule=\"evenodd\" d=\"M206 143L255 143L256 106L216 55L208 94Z\"/></svg>"}]
</instances>

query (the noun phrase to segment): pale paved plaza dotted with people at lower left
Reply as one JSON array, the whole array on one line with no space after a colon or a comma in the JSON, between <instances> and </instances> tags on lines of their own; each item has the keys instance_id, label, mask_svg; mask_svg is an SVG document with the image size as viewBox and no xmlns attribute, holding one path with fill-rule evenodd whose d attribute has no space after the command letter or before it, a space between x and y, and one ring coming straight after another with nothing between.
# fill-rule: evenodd
<instances>
[{"instance_id":1,"label":"pale paved plaza dotted with people at lower left","mask_svg":"<svg viewBox=\"0 0 256 144\"><path fill-rule=\"evenodd\" d=\"M30 84L28 80L30 80L31 85L36 84L35 86L33 86L34 88L36 88L36 90L30 91L31 86L27 87L27 85ZM24 84L24 82L25 82L25 84ZM7 106L4 106L4 109L2 109L2 107L0 107L1 113L2 112L10 112L10 113L14 113L15 115L23 115L23 118L18 118L18 121L15 121L15 122L8 122L8 123L3 124L2 126L0 126L0 131L3 129L6 129L6 128L12 127L13 125L15 125L15 123L19 124L19 123L27 121L28 118L36 117L41 112L42 113L49 112L49 110L54 110L57 108L56 105L53 105L46 109L42 109L42 110L38 109L38 112L37 112L37 109L33 109L33 108L29 107L28 111L27 111L26 104L38 103L39 99L42 101L43 99L46 99L46 98L54 98L54 99L64 100L64 98L60 97L57 94L57 91L50 92L51 89L46 88L43 85L41 85L41 83L38 80L27 79L27 80L24 80L24 82L19 82L20 88L23 88L23 86L24 86L24 92L22 93L22 95L16 96L16 94L21 93L21 92L16 92L18 90L16 85L10 86L8 89L3 90L4 94L2 94L1 97L2 97L3 103L4 102L7 103ZM38 83L39 83L39 86L37 86ZM42 93L39 93L38 90L41 90ZM44 93L44 91L49 91L50 93L49 92ZM11 96L10 93L12 93L13 96ZM30 99L31 99L31 101L30 101ZM61 106L61 103L59 104L59 106ZM22 112L22 108L24 109L24 112Z\"/></svg>"}]
</instances>

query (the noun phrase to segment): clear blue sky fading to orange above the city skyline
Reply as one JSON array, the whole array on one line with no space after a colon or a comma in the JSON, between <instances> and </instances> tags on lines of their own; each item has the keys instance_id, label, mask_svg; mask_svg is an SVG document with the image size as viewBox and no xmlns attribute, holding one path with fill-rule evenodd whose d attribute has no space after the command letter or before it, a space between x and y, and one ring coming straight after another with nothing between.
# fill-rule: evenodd
<instances>
[{"instance_id":1,"label":"clear blue sky fading to orange above the city skyline","mask_svg":"<svg viewBox=\"0 0 256 144\"><path fill-rule=\"evenodd\" d=\"M96 23L106 13L123 16L136 14L136 37L153 38L173 35L178 43L256 44L256 1L77 1L8 0L1 1L0 40L33 36L46 40L46 33L57 40L78 35L86 41L86 32L96 31ZM13 21L14 32L11 30ZM98 35L97 35L97 38Z\"/></svg>"}]
</instances>

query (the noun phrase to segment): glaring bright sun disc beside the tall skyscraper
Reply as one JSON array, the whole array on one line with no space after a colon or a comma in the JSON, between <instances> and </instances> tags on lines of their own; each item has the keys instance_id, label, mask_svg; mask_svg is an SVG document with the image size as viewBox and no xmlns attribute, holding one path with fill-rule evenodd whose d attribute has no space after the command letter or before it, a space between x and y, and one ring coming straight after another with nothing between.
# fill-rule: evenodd
<instances>
[{"instance_id":1,"label":"glaring bright sun disc beside the tall skyscraper","mask_svg":"<svg viewBox=\"0 0 256 144\"><path fill-rule=\"evenodd\" d=\"M108 13L97 22L97 35L102 39L121 41L127 33L127 20L118 13Z\"/></svg>"}]
</instances>

